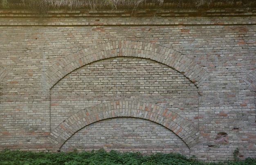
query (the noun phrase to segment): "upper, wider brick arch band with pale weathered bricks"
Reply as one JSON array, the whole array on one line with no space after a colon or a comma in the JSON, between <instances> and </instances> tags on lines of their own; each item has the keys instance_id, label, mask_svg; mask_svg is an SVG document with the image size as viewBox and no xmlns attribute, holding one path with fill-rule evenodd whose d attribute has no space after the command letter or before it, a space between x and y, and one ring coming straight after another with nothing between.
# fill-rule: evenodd
<instances>
[{"instance_id":1,"label":"upper, wider brick arch band with pale weathered bricks","mask_svg":"<svg viewBox=\"0 0 256 165\"><path fill-rule=\"evenodd\" d=\"M92 62L111 57L141 57L165 64L191 80L199 87L209 74L192 59L158 44L138 41L113 41L84 48L56 62L43 74L48 89L65 75Z\"/></svg>"}]
</instances>

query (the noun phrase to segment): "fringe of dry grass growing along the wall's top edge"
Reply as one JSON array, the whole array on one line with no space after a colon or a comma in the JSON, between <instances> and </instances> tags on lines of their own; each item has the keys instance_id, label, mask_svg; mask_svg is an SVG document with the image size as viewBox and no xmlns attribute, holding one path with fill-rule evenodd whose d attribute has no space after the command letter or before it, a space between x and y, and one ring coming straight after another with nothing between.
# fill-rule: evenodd
<instances>
[{"instance_id":1,"label":"fringe of dry grass growing along the wall's top edge","mask_svg":"<svg viewBox=\"0 0 256 165\"><path fill-rule=\"evenodd\" d=\"M0 0L0 9L26 9L43 17L49 10L115 10L140 8L255 7L255 0ZM219 5L221 4L221 5ZM222 5L225 4L225 5Z\"/></svg>"}]
</instances>

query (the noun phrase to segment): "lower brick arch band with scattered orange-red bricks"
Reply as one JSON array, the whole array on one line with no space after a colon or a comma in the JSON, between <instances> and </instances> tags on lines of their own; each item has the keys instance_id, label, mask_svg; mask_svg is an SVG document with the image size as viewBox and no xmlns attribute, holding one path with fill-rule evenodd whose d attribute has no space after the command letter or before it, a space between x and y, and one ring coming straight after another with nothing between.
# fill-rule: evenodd
<instances>
[{"instance_id":1,"label":"lower brick arch band with scattered orange-red bricks","mask_svg":"<svg viewBox=\"0 0 256 165\"><path fill-rule=\"evenodd\" d=\"M135 117L159 123L179 136L189 148L204 139L189 121L177 113L140 101L112 101L80 110L60 123L47 138L60 148L67 139L85 126L115 117Z\"/></svg>"}]
</instances>

